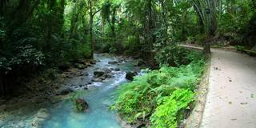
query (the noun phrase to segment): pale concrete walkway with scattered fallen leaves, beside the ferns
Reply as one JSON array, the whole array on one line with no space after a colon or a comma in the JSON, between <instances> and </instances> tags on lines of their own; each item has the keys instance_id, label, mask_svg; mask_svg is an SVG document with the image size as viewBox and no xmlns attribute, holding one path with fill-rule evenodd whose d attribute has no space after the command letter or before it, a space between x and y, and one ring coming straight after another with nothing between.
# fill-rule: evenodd
<instances>
[{"instance_id":1,"label":"pale concrete walkway with scattered fallen leaves, beside the ferns","mask_svg":"<svg viewBox=\"0 0 256 128\"><path fill-rule=\"evenodd\" d=\"M212 50L202 128L256 128L256 58Z\"/></svg>"}]
</instances>

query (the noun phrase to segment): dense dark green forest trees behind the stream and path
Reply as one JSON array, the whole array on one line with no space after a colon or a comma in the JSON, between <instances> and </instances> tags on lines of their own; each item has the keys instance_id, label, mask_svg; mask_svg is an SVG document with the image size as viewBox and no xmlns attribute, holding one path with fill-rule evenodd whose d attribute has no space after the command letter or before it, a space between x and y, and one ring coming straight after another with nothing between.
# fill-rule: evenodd
<instances>
[{"instance_id":1,"label":"dense dark green forest trees behind the stream and path","mask_svg":"<svg viewBox=\"0 0 256 128\"><path fill-rule=\"evenodd\" d=\"M179 66L191 59L178 55L188 53L178 42L251 49L255 9L254 0L2 0L0 78L93 58L94 50Z\"/></svg>"}]
</instances>

